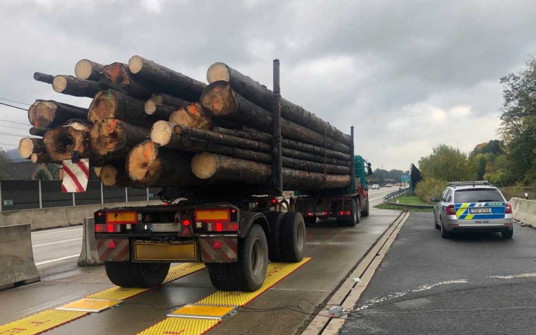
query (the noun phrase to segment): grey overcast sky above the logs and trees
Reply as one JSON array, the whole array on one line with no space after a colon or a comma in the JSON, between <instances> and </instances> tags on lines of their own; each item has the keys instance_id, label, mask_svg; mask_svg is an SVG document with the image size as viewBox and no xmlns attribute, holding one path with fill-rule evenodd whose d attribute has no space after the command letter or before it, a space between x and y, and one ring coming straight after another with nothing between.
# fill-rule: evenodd
<instances>
[{"instance_id":1,"label":"grey overcast sky above the logs and trees","mask_svg":"<svg viewBox=\"0 0 536 335\"><path fill-rule=\"evenodd\" d=\"M137 54L202 81L225 62L268 87L279 58L286 99L354 125L373 167L406 170L438 144L469 152L498 137L499 79L523 68L535 33L534 0L2 0L0 98L87 107L32 77L73 75L82 58ZM0 119L27 114L0 106ZM27 133L13 127L29 128L0 121L0 146Z\"/></svg>"}]
</instances>

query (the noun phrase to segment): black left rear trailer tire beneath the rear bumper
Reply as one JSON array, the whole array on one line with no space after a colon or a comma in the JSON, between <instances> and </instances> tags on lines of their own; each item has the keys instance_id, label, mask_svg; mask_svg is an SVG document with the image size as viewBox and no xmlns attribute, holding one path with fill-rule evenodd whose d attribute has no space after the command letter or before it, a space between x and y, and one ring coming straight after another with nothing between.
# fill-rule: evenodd
<instances>
[{"instance_id":1,"label":"black left rear trailer tire beneath the rear bumper","mask_svg":"<svg viewBox=\"0 0 536 335\"><path fill-rule=\"evenodd\" d=\"M171 263L105 262L108 279L120 287L151 288L166 279Z\"/></svg>"}]
</instances>

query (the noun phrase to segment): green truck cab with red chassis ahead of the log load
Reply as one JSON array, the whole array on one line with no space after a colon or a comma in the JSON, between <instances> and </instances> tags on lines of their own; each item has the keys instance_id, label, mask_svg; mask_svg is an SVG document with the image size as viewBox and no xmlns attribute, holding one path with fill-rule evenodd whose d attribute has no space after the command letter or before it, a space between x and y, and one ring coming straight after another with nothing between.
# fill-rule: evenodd
<instances>
[{"instance_id":1,"label":"green truck cab with red chassis ahead of the log load","mask_svg":"<svg viewBox=\"0 0 536 335\"><path fill-rule=\"evenodd\" d=\"M319 193L295 192L290 205L303 215L306 226L314 224L317 218L335 218L339 226L355 226L361 217L368 217L367 177L372 174L370 163L355 155L351 173L351 184L347 188Z\"/></svg>"}]
</instances>

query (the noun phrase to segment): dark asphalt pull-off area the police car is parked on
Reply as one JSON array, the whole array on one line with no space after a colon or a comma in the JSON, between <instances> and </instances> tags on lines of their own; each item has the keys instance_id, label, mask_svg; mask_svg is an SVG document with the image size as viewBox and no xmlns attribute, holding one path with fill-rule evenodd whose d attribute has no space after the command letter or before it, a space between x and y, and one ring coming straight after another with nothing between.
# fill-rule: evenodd
<instances>
[{"instance_id":1,"label":"dark asphalt pull-off area the police car is parked on","mask_svg":"<svg viewBox=\"0 0 536 335\"><path fill-rule=\"evenodd\" d=\"M341 334L534 334L535 258L535 229L445 240L412 213Z\"/></svg>"}]
</instances>

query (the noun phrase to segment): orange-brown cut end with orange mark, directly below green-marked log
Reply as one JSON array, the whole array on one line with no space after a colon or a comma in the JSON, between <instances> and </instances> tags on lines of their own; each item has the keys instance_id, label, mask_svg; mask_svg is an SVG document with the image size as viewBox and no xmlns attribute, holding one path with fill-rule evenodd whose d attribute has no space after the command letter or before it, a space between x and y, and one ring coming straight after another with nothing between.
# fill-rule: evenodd
<instances>
[{"instance_id":1,"label":"orange-brown cut end with orange mark, directly below green-marked log","mask_svg":"<svg viewBox=\"0 0 536 335\"><path fill-rule=\"evenodd\" d=\"M106 155L117 151L125 142L125 128L114 118L95 122L90 130L90 146L94 153Z\"/></svg>"}]
</instances>

